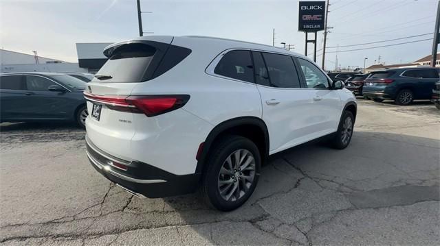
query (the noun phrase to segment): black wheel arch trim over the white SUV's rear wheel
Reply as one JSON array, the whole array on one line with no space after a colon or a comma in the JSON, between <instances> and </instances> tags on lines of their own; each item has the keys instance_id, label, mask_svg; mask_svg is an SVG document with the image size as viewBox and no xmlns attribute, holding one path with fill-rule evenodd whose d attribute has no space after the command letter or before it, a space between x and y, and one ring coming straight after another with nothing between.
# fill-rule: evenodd
<instances>
[{"instance_id":1,"label":"black wheel arch trim over the white SUV's rear wheel","mask_svg":"<svg viewBox=\"0 0 440 246\"><path fill-rule=\"evenodd\" d=\"M203 142L200 154L197 155L198 158L195 173L203 173L206 167L205 162L208 158L211 147L217 139L227 134L250 138L250 140L252 140L259 148L261 160L263 162L265 162L269 156L269 132L265 122L255 116L237 117L219 123L219 125L215 126L210 131L205 142Z\"/></svg>"}]
</instances>

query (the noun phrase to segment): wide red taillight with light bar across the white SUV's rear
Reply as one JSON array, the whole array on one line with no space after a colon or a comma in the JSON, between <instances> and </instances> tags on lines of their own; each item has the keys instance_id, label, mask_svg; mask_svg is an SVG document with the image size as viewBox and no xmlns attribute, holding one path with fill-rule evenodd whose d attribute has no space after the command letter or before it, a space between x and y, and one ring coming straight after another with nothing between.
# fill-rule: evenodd
<instances>
[{"instance_id":1,"label":"wide red taillight with light bar across the white SUV's rear","mask_svg":"<svg viewBox=\"0 0 440 246\"><path fill-rule=\"evenodd\" d=\"M105 104L112 110L143 113L148 117L164 114L183 107L190 99L189 95L105 95L84 93L85 99Z\"/></svg>"}]
</instances>

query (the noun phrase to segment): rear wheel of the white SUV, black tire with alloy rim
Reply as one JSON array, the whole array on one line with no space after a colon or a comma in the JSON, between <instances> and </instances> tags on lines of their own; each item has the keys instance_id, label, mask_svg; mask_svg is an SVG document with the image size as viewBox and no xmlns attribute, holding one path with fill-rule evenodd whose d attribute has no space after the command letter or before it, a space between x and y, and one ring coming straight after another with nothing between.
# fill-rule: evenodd
<instances>
[{"instance_id":1,"label":"rear wheel of the white SUV, black tire with alloy rim","mask_svg":"<svg viewBox=\"0 0 440 246\"><path fill-rule=\"evenodd\" d=\"M241 160L239 160L239 163L242 163L241 167L244 167L244 163L248 162L251 155L254 162L245 166L241 171L238 171L236 166L229 166L234 169L232 172L229 172L229 169L226 169L224 165L228 165L228 163L234 164L234 153L237 151L239 151L239 155L243 153L244 156L243 158L239 158ZM229 157L231 157L229 159L230 162L227 162ZM214 143L207 160L208 162L206 162L206 164L208 167L203 173L203 184L201 188L206 203L221 211L230 211L239 208L249 199L250 195L252 195L259 181L261 169L259 149L248 138L228 135ZM248 169L252 168L254 168L254 176L252 182L248 182L248 178L242 177L251 177L252 170ZM221 173L221 170L223 173ZM221 182L223 182L223 184L221 184ZM240 190L240 188L243 190ZM223 193L221 193L221 189L223 189ZM237 189L239 190L238 194L236 193ZM241 193L242 191L243 193ZM227 198L229 194L231 195Z\"/></svg>"}]
</instances>

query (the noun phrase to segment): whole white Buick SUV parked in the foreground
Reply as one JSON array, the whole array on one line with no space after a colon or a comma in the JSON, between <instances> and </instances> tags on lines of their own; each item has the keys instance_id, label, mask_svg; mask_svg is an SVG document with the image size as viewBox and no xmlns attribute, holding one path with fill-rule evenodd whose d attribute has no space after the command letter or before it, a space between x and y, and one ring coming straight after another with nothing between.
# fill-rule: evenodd
<instances>
[{"instance_id":1,"label":"whole white Buick SUV parked in the foreground","mask_svg":"<svg viewBox=\"0 0 440 246\"><path fill-rule=\"evenodd\" d=\"M273 153L322 136L344 149L356 101L305 56L251 42L148 36L104 49L87 84L87 156L137 197L252 195Z\"/></svg>"}]
</instances>

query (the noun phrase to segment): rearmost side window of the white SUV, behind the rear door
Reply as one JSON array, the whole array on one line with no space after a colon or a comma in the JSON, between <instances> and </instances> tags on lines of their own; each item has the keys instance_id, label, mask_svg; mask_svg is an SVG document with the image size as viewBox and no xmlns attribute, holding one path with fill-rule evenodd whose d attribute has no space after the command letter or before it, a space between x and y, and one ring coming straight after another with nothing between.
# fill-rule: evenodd
<instances>
[{"instance_id":1,"label":"rearmost side window of the white SUV, behind the rear door","mask_svg":"<svg viewBox=\"0 0 440 246\"><path fill-rule=\"evenodd\" d=\"M254 69L250 51L229 51L220 60L214 73L245 82L254 82Z\"/></svg>"}]
</instances>

